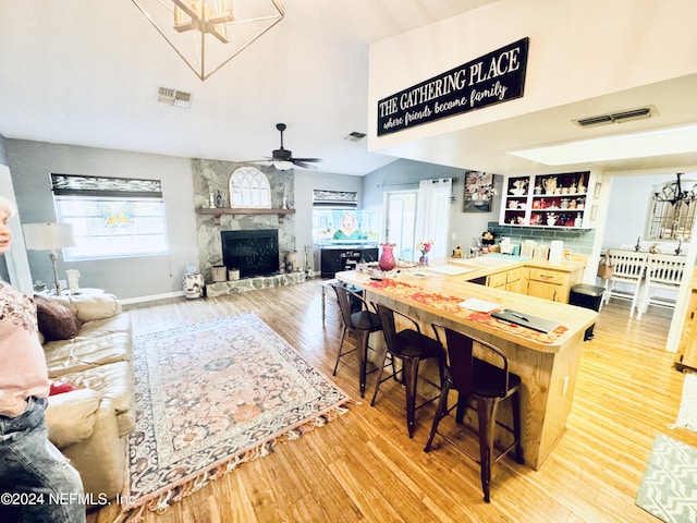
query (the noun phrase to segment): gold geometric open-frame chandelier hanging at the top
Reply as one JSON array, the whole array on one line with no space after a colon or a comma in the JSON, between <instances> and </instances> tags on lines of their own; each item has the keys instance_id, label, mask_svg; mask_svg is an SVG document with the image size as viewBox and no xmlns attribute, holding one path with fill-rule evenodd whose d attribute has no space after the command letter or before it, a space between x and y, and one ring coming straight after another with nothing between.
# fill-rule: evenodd
<instances>
[{"instance_id":1,"label":"gold geometric open-frame chandelier hanging at the top","mask_svg":"<svg viewBox=\"0 0 697 523\"><path fill-rule=\"evenodd\" d=\"M283 20L279 0L133 0L201 81Z\"/></svg>"}]
</instances>

